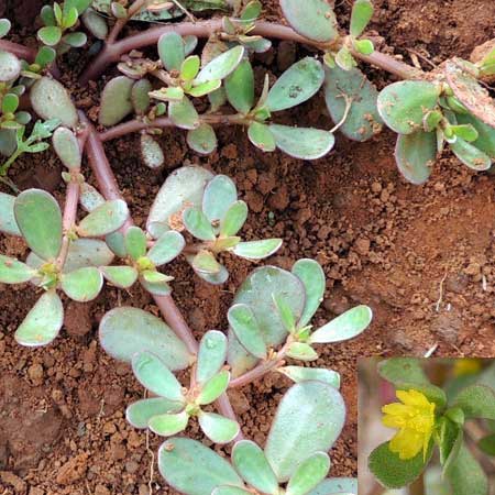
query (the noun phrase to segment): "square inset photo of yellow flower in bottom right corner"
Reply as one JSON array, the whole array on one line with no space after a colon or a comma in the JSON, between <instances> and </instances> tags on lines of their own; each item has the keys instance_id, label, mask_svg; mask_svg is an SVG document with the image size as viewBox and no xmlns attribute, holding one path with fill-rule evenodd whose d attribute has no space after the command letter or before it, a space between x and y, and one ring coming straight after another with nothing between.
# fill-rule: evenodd
<instances>
[{"instance_id":1,"label":"square inset photo of yellow flower in bottom right corner","mask_svg":"<svg viewBox=\"0 0 495 495\"><path fill-rule=\"evenodd\" d=\"M495 494L495 360L359 360L359 495Z\"/></svg>"}]
</instances>

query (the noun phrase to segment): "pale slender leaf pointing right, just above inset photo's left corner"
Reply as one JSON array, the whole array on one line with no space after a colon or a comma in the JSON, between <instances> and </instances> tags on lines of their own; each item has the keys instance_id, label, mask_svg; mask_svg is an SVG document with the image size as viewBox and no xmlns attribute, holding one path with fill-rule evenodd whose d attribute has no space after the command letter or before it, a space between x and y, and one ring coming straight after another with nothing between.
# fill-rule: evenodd
<instances>
[{"instance_id":1,"label":"pale slender leaf pointing right, just above inset photo's left corner","mask_svg":"<svg viewBox=\"0 0 495 495\"><path fill-rule=\"evenodd\" d=\"M311 333L312 343L341 342L363 332L371 323L373 312L369 306L356 306Z\"/></svg>"}]
</instances>

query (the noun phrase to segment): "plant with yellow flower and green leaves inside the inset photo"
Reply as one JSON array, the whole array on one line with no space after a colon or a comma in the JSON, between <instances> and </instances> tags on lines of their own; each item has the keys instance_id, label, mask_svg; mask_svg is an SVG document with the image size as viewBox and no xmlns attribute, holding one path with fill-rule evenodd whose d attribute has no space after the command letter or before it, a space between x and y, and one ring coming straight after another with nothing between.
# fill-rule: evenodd
<instances>
[{"instance_id":1,"label":"plant with yellow flower and green leaves inside the inset photo","mask_svg":"<svg viewBox=\"0 0 495 495\"><path fill-rule=\"evenodd\" d=\"M424 473L438 449L443 477L453 494L486 495L488 481L468 448L466 431L468 421L487 420L488 432L477 447L493 455L494 365L482 370L479 364L476 373L458 374L442 387L428 380L424 367L421 360L410 358L378 364L380 375L393 384L400 400L382 408L383 422L398 431L372 452L370 470L385 487L402 488Z\"/></svg>"}]
</instances>

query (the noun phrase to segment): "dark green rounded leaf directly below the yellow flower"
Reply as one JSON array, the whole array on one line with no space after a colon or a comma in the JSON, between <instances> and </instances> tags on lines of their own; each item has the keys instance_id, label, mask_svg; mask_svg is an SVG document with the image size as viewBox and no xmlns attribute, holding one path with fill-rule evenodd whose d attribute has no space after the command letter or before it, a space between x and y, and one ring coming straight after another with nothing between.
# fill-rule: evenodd
<instances>
[{"instance_id":1,"label":"dark green rounded leaf directly below the yellow flower","mask_svg":"<svg viewBox=\"0 0 495 495\"><path fill-rule=\"evenodd\" d=\"M369 458L370 471L386 488L402 488L413 483L424 471L433 452L432 442L426 459L422 450L414 459L403 461L392 452L389 442L382 443Z\"/></svg>"}]
</instances>

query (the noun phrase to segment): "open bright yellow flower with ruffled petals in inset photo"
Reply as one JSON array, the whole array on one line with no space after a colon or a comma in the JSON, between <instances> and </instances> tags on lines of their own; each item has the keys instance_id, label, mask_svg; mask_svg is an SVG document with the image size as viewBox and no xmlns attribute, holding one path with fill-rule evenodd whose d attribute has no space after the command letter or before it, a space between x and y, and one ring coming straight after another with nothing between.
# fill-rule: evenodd
<instances>
[{"instance_id":1,"label":"open bright yellow flower with ruffled petals in inset photo","mask_svg":"<svg viewBox=\"0 0 495 495\"><path fill-rule=\"evenodd\" d=\"M435 403L414 389L397 391L396 395L403 404L394 403L382 407L385 415L383 424L399 430L391 440L389 448L403 461L415 458L421 449L426 459L435 426Z\"/></svg>"}]
</instances>

